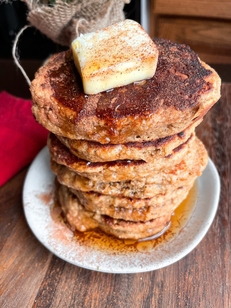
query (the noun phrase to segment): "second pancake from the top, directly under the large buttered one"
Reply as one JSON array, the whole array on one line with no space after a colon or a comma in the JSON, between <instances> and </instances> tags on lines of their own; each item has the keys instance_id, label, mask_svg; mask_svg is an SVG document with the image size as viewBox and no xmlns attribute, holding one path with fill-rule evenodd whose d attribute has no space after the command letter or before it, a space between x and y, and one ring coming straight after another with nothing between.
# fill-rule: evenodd
<instances>
[{"instance_id":1,"label":"second pancake from the top, directly under the large buttered one","mask_svg":"<svg viewBox=\"0 0 231 308\"><path fill-rule=\"evenodd\" d=\"M154 141L129 142L124 144L101 144L96 141L75 140L59 135L56 135L56 137L73 155L90 162L144 160L151 163L155 159L168 156L174 148L186 142L194 132L195 126L200 123L201 120L195 122L183 132L173 136Z\"/></svg>"}]
</instances>

